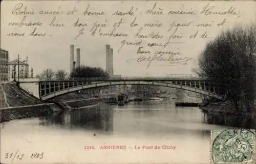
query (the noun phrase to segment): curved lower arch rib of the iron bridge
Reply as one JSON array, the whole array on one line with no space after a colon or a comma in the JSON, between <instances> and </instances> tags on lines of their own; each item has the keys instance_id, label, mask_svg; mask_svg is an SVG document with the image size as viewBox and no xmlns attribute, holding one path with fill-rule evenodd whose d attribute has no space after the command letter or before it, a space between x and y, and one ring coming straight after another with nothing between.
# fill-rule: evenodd
<instances>
[{"instance_id":1,"label":"curved lower arch rib of the iron bridge","mask_svg":"<svg viewBox=\"0 0 256 164\"><path fill-rule=\"evenodd\" d=\"M40 85L40 84L39 84ZM187 85L181 85L181 84L174 84L174 83L167 83L166 81L100 81L93 84L85 84L75 87L70 87L67 89L62 89L58 91L51 92L49 94L41 96L39 91L39 97L41 100L48 100L54 97L58 97L61 95L65 95L68 93L84 90L84 89L90 89L90 88L97 88L97 87L105 87L105 86L117 86L117 85L151 85L151 86L160 86L160 87L168 87L168 88L176 88L176 89L182 89L186 91L191 91L203 95L207 95L209 97L214 97L216 99L222 100L223 96L214 92L210 92L208 90L199 88L199 87L191 87ZM40 90L40 87L39 87Z\"/></svg>"}]
</instances>

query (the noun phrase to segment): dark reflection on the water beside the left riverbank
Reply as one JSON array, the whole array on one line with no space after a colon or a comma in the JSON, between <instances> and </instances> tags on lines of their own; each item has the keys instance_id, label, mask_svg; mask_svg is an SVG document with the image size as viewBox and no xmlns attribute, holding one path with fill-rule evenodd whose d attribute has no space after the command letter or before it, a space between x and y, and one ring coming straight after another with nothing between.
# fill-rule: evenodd
<instances>
[{"instance_id":1,"label":"dark reflection on the water beside the left riverbank","mask_svg":"<svg viewBox=\"0 0 256 164\"><path fill-rule=\"evenodd\" d=\"M83 128L113 132L113 112L108 104L65 111L39 118L39 125L60 125L65 128Z\"/></svg>"}]
</instances>

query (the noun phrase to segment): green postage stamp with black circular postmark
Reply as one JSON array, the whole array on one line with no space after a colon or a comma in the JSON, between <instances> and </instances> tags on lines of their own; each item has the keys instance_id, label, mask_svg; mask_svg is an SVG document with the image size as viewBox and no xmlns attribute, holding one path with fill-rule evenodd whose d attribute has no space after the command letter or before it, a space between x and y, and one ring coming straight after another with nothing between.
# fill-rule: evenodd
<instances>
[{"instance_id":1,"label":"green postage stamp with black circular postmark","mask_svg":"<svg viewBox=\"0 0 256 164\"><path fill-rule=\"evenodd\" d=\"M211 130L211 161L255 163L255 130Z\"/></svg>"}]
</instances>

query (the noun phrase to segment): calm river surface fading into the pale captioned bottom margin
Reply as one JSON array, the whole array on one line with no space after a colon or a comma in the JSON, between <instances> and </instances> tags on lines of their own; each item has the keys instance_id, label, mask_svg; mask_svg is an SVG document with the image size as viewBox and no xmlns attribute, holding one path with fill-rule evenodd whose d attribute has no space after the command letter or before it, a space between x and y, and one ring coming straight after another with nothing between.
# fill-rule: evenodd
<instances>
[{"instance_id":1,"label":"calm river surface fading into the pale captioned bottom margin","mask_svg":"<svg viewBox=\"0 0 256 164\"><path fill-rule=\"evenodd\" d=\"M1 124L1 163L209 163L210 130L231 127L205 119L155 100L13 120ZM109 145L122 149L100 149Z\"/></svg>"}]
</instances>

